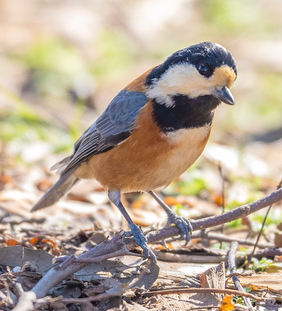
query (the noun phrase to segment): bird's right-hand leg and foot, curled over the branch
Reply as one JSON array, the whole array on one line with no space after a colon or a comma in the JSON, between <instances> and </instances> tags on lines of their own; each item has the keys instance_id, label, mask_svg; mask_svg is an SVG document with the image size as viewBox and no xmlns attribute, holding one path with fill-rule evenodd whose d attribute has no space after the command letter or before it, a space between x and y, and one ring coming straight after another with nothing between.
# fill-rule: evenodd
<instances>
[{"instance_id":1,"label":"bird's right-hand leg and foot, curled over the branch","mask_svg":"<svg viewBox=\"0 0 282 311\"><path fill-rule=\"evenodd\" d=\"M174 224L180 231L180 238L183 239L185 236L185 246L190 241L190 235L192 234L192 225L189 219L185 217L178 216L174 211L172 211L166 204L163 202L154 191L148 191L149 193L164 209L167 214L167 222L165 226Z\"/></svg>"}]
</instances>

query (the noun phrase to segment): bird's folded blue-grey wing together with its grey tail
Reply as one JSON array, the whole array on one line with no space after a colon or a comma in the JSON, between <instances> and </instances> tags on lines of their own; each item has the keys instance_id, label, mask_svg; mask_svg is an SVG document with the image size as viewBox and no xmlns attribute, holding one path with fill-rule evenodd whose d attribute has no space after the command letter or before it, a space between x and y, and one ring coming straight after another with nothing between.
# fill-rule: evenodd
<instances>
[{"instance_id":1,"label":"bird's folded blue-grey wing together with its grey tail","mask_svg":"<svg viewBox=\"0 0 282 311\"><path fill-rule=\"evenodd\" d=\"M123 90L111 101L107 109L74 144L71 156L55 164L60 179L45 193L31 211L48 207L63 197L79 180L74 171L91 156L106 152L126 140L134 130L139 110L148 98L144 93Z\"/></svg>"}]
</instances>

